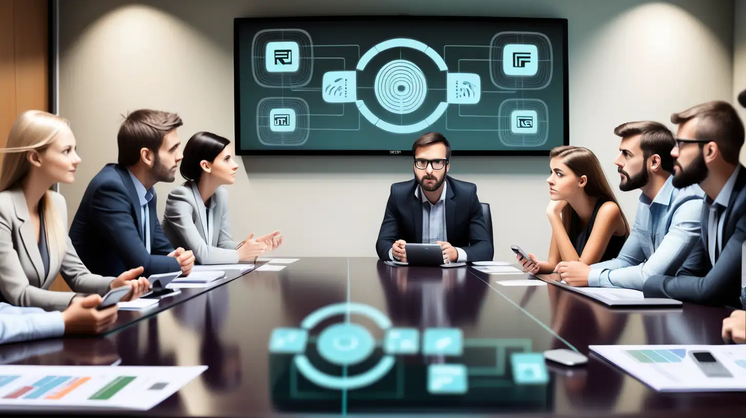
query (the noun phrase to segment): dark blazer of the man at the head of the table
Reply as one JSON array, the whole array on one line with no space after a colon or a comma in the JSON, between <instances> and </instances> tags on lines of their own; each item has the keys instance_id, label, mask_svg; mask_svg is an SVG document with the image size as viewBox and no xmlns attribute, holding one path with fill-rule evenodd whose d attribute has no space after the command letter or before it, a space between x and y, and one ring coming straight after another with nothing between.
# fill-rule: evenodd
<instances>
[{"instance_id":1,"label":"dark blazer of the man at the head of the table","mask_svg":"<svg viewBox=\"0 0 746 418\"><path fill-rule=\"evenodd\" d=\"M445 233L451 246L466 252L467 261L491 261L495 255L487 233L477 185L445 177ZM389 249L396 240L422 243L422 201L415 196L419 184L413 178L391 185L386 213L375 244L381 260L390 260Z\"/></svg>"}]
</instances>

